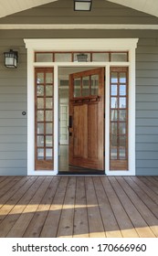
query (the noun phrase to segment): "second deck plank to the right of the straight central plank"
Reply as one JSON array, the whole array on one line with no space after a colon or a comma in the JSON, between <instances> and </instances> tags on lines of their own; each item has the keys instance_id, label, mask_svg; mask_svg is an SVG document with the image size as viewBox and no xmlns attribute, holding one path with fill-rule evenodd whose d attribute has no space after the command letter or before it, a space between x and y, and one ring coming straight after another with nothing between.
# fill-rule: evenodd
<instances>
[{"instance_id":1,"label":"second deck plank to the right of the straight central plank","mask_svg":"<svg viewBox=\"0 0 158 256\"><path fill-rule=\"evenodd\" d=\"M121 230L119 229L117 220L114 217L110 202L105 193L100 177L94 177L94 187L99 202L100 214L107 238L121 238Z\"/></svg>"}]
</instances>

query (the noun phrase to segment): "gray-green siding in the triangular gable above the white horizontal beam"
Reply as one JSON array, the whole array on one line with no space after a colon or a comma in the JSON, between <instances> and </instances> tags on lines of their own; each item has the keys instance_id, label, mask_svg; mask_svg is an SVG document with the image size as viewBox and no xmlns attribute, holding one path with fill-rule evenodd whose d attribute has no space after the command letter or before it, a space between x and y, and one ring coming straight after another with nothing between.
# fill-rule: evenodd
<instances>
[{"instance_id":1,"label":"gray-green siding in the triangular gable above the white horizontal beam","mask_svg":"<svg viewBox=\"0 0 158 256\"><path fill-rule=\"evenodd\" d=\"M126 8L121 5L109 3L104 0L93 1L91 12L74 12L73 1L57 1L48 5L38 6L31 10L7 16L0 20L1 23L44 23L44 24L100 24L100 23L132 23L157 24L157 18L142 12Z\"/></svg>"}]
</instances>

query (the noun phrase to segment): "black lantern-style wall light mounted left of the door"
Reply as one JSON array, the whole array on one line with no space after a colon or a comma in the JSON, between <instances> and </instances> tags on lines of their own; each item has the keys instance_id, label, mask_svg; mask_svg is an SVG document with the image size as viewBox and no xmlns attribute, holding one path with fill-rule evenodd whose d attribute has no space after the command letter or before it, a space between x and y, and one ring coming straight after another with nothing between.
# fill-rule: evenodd
<instances>
[{"instance_id":1,"label":"black lantern-style wall light mounted left of the door","mask_svg":"<svg viewBox=\"0 0 158 256\"><path fill-rule=\"evenodd\" d=\"M5 54L5 67L9 69L16 69L18 62L18 52L10 49L8 52L4 52Z\"/></svg>"}]
</instances>

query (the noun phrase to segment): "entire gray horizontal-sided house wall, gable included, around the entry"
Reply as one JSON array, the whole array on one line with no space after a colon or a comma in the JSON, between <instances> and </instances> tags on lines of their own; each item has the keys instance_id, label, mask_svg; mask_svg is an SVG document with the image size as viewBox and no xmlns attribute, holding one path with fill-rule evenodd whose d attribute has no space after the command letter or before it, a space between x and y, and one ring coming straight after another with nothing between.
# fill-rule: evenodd
<instances>
[{"instance_id":1,"label":"entire gray horizontal-sided house wall, gable included, around the entry","mask_svg":"<svg viewBox=\"0 0 158 256\"><path fill-rule=\"evenodd\" d=\"M153 23L157 18L106 1L94 1L89 16L61 1L2 18L0 23ZM104 6L103 9L101 6ZM50 8L51 7L51 8ZM107 7L107 9L106 9ZM66 9L67 8L67 9ZM53 12L53 13L52 13ZM65 16L67 14L67 16ZM42 16L42 22L41 22ZM75 18L74 18L75 16ZM0 174L26 175L26 48L23 38L139 37L136 50L136 174L158 175L158 36L141 30L1 30ZM18 69L4 67L3 53L19 52Z\"/></svg>"}]
</instances>

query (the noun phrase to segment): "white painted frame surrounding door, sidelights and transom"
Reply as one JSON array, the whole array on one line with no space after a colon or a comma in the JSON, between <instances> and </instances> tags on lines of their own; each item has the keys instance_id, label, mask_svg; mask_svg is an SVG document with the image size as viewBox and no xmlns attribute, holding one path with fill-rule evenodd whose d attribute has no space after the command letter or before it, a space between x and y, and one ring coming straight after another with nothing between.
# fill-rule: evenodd
<instances>
[{"instance_id":1,"label":"white painted frame surrounding door, sidelights and transom","mask_svg":"<svg viewBox=\"0 0 158 256\"><path fill-rule=\"evenodd\" d=\"M105 67L105 173L108 176L135 175L135 48L138 38L24 39L27 48L27 175L58 174L58 122L54 122L54 170L35 170L35 67L54 68L54 120L58 121L58 68ZM128 62L35 62L35 51L129 51ZM129 170L110 170L110 68L129 67Z\"/></svg>"}]
</instances>

